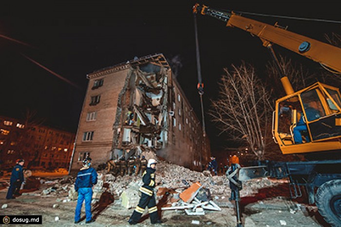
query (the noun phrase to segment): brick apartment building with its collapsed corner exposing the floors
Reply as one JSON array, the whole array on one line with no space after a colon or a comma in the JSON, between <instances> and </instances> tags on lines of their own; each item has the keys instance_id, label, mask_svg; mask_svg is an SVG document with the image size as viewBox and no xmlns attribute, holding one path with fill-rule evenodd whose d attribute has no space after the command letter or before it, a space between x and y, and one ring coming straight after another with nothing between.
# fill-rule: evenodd
<instances>
[{"instance_id":1,"label":"brick apartment building with its collapsed corner exposing the floors","mask_svg":"<svg viewBox=\"0 0 341 227\"><path fill-rule=\"evenodd\" d=\"M192 170L210 157L209 140L163 54L87 75L71 172L83 158L93 165L156 153Z\"/></svg>"}]
</instances>

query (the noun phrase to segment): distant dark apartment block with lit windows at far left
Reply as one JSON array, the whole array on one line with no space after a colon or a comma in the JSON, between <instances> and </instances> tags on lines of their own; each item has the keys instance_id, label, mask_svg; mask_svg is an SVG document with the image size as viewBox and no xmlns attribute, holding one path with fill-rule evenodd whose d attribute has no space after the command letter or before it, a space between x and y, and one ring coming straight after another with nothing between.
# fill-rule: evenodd
<instances>
[{"instance_id":1,"label":"distant dark apartment block with lit windows at far left","mask_svg":"<svg viewBox=\"0 0 341 227\"><path fill-rule=\"evenodd\" d=\"M23 158L25 167L68 169L75 137L75 133L0 116L3 168L12 167L16 159Z\"/></svg>"}]
</instances>

